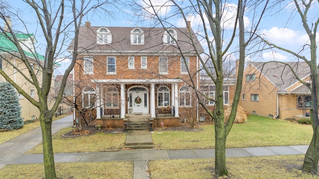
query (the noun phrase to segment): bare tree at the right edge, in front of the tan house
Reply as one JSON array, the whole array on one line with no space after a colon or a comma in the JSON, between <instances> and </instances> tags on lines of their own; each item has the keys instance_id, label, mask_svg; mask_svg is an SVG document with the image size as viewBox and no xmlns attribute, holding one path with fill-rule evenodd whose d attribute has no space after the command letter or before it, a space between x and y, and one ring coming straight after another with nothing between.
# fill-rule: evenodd
<instances>
[{"instance_id":1,"label":"bare tree at the right edge, in front of the tan house","mask_svg":"<svg viewBox=\"0 0 319 179\"><path fill-rule=\"evenodd\" d=\"M278 3L277 3L278 2ZM276 1L275 5L281 5L281 1ZM311 91L311 110L310 116L312 119L312 126L313 126L313 138L305 155L304 164L302 167L303 172L317 174L318 175L318 161L319 161L319 118L318 118L318 107L319 107L319 93L317 89L319 89L319 64L317 62L317 31L318 31L318 24L319 24L319 15L317 13L317 9L313 6L319 5L318 0L293 0L290 4L294 8L292 13L296 13L301 17L301 21L303 27L308 34L309 40L306 44L301 47L301 50L295 52L294 50L290 50L284 48L282 46L278 46L268 40L266 40L263 36L259 36L269 47L265 47L266 49L269 48L276 48L285 52L288 52L295 56L298 60L304 60L310 68L310 77L311 83L307 81L303 81L295 71L293 66L290 66L289 63L280 62L284 65L288 66L292 72L294 73L296 79L298 79L302 84L306 85L309 90ZM312 12L313 10L313 12ZM314 20L314 21L312 21ZM309 55L310 54L310 55ZM310 57L307 57L310 56Z\"/></svg>"}]
</instances>

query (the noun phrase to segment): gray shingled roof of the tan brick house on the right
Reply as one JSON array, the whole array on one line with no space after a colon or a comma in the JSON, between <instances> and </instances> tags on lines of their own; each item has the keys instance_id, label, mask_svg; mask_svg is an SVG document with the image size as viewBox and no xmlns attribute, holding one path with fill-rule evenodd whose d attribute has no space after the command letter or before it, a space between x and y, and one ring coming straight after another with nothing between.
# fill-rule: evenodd
<instances>
[{"instance_id":1,"label":"gray shingled roof of the tan brick house on the right","mask_svg":"<svg viewBox=\"0 0 319 179\"><path fill-rule=\"evenodd\" d=\"M298 82L291 69L283 63L279 62L250 62L255 66L266 78L268 78L279 91L287 91L287 88ZM310 75L310 67L306 62L286 62L293 67L298 76L303 79ZM256 78L258 78L256 76ZM304 87L303 87L304 86ZM306 92L305 85L295 89L295 92ZM309 90L308 90L309 91ZM293 91L291 91L293 92Z\"/></svg>"}]
</instances>

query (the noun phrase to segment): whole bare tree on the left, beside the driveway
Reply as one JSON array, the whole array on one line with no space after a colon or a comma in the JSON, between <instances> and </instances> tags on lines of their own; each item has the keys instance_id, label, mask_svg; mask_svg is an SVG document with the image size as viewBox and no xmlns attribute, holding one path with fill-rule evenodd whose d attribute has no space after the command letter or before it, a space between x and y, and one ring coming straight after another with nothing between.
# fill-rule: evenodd
<instances>
[{"instance_id":1,"label":"whole bare tree on the left, beside the driveway","mask_svg":"<svg viewBox=\"0 0 319 179\"><path fill-rule=\"evenodd\" d=\"M109 1L95 1L88 0L60 0L60 1L35 1L35 0L22 0L25 3L24 8L29 10L31 15L27 15L26 18L20 16L21 11L10 3L1 1L0 18L5 22L5 28L0 27L1 35L9 40L11 48L0 47L1 51L6 52L6 55L1 55L2 64L6 64L11 69L14 69L16 73L20 74L24 78L26 83L32 85L37 92L38 100L35 100L30 96L27 91L24 91L10 76L5 72L5 69L0 68L0 74L3 78L11 83L14 88L24 96L25 99L29 100L39 111L39 121L42 130L42 144L43 144L43 159L44 159L44 170L46 179L56 179L56 172L54 167L54 156L52 149L52 136L51 126L52 117L56 111L59 103L62 100L63 91L67 82L67 77L74 67L77 60L77 50L72 52L72 60L70 66L65 70L63 79L61 81L61 87L56 95L54 103L51 105L48 101L49 93L51 90L51 82L53 77L53 70L55 67L55 59L61 54L65 46L63 45L69 39L69 35L73 37L74 43L73 49L77 49L78 46L78 32L82 22L82 18L88 12L97 10L107 4ZM79 2L77 4L76 2ZM105 11L106 12L106 11ZM38 33L44 37L44 56L37 52L37 46L32 43L31 45L25 44L20 41L17 34L30 35L29 27L26 21L29 18L37 22L39 29ZM20 24L22 29L18 31L11 27L11 21L7 16L13 17L16 20L16 24ZM27 31L26 33L23 31ZM33 38L33 37L32 37ZM34 42L34 41L33 41ZM21 59L21 63L18 65L12 63L11 59ZM41 75L35 73L32 64L37 64ZM21 70L25 69L25 70Z\"/></svg>"}]
</instances>

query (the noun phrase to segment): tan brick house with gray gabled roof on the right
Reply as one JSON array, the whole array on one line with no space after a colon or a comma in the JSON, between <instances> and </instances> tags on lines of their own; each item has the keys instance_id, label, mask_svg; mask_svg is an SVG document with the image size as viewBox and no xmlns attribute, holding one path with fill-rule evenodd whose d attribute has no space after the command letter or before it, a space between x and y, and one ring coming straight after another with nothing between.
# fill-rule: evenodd
<instances>
[{"instance_id":1,"label":"tan brick house with gray gabled roof on the right","mask_svg":"<svg viewBox=\"0 0 319 179\"><path fill-rule=\"evenodd\" d=\"M287 62L300 79L311 84L306 62ZM250 114L280 118L306 117L311 92L300 83L291 69L280 62L249 62L245 67L241 105Z\"/></svg>"}]
</instances>

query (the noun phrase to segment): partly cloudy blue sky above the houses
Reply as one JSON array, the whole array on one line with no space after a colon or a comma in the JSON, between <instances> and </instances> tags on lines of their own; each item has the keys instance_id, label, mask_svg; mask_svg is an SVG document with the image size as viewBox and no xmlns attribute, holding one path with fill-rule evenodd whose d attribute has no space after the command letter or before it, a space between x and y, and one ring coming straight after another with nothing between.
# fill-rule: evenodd
<instances>
[{"instance_id":1,"label":"partly cloudy blue sky above the houses","mask_svg":"<svg viewBox=\"0 0 319 179\"><path fill-rule=\"evenodd\" d=\"M161 17L169 17L169 14L174 14L176 11L173 8L173 4L171 2L168 2L167 0L151 0L151 2L148 1L148 4L146 4L147 0L137 0L137 3L140 5L140 7L144 7L146 10L152 11L152 9L148 8L148 5L152 2L152 4L155 6L155 9L159 12ZM186 8L187 1L177 0L176 2L182 4L183 7ZM234 3L232 3L234 2ZM229 0L229 3L225 5L227 9L227 13L224 14L223 19L225 21L225 28L226 28L226 34L230 33L230 31L227 32L228 26L231 26L234 23L234 14L236 13L236 7L235 3L237 0ZM272 1L271 1L272 2ZM268 8L266 9L264 18L262 19L257 33L262 35L264 38L269 40L270 42L277 44L279 46L288 48L294 52L299 52L305 43L307 43L307 40L309 39L308 35L306 34L303 24L301 22L301 18L299 14L296 13L296 9L294 7L293 3L289 3L289 0L284 1L280 6L277 6L277 8ZM24 2L21 2L21 0L15 0L15 1L9 1L10 5L18 7L22 9L21 12L19 12L18 16L23 18L25 21L27 21L28 31L35 33L35 37L38 40L38 50L42 53L44 53L45 46L42 44L44 42L43 35L40 34L39 26L37 25L35 20L34 14L28 9L25 8ZM133 1L129 1L129 3L133 3ZM284 4L285 3L285 4ZM159 7L162 5L167 5L166 7ZM95 13L88 13L84 16L84 19L82 23L85 21L90 21L92 26L140 26L140 27L150 27L157 24L157 21L148 18L147 13L142 13L142 11L133 8L133 5L130 4L116 4L116 7L107 7L110 9L110 14L105 14L103 11L95 11ZM279 7L281 9L279 9ZM255 19L252 18L252 9L256 8L258 12L261 11L260 7L249 7L245 11L245 26L246 29L249 30L250 25L255 22ZM315 5L312 5L310 12L309 12L309 22L316 20L318 18L318 13L316 10L318 9L318 3ZM70 14L67 14L70 15ZM67 16L65 15L65 16ZM144 15L144 16L141 16ZM317 16L316 16L317 15ZM200 23L200 18L198 15L189 15L187 16L188 20L191 21L191 27L192 29L199 33L203 34L202 31L202 24ZM184 21L180 18L180 16L173 16L167 19L167 21L177 27L185 27ZM15 20L15 18L12 19L12 24L18 22L18 20ZM19 23L15 24L19 25ZM72 33L68 34L69 39L66 40L64 43L68 44L71 40ZM212 35L210 36L210 39L212 40ZM317 37L317 39L319 39ZM233 49L230 51L236 50L236 43L233 45ZM42 45L41 45L42 44ZM225 40L225 44L227 44L227 40ZM207 48L207 44L205 42L202 42L202 46L204 49ZM306 46L307 47L307 46ZM65 50L66 45L62 47L62 50ZM309 51L309 50L308 50ZM62 53L59 54L58 57L64 57L66 55L69 55L69 53ZM309 57L308 53L303 53L303 55ZM237 58L237 54L234 53L233 58ZM60 61L59 64L61 67L57 70L57 72L63 72L65 70L65 66L68 65L68 58L64 61ZM283 52L281 50L264 50L259 55L252 55L247 54L247 60L251 61L270 61L270 60L279 60L279 61L296 61L295 57L292 55Z\"/></svg>"}]
</instances>

